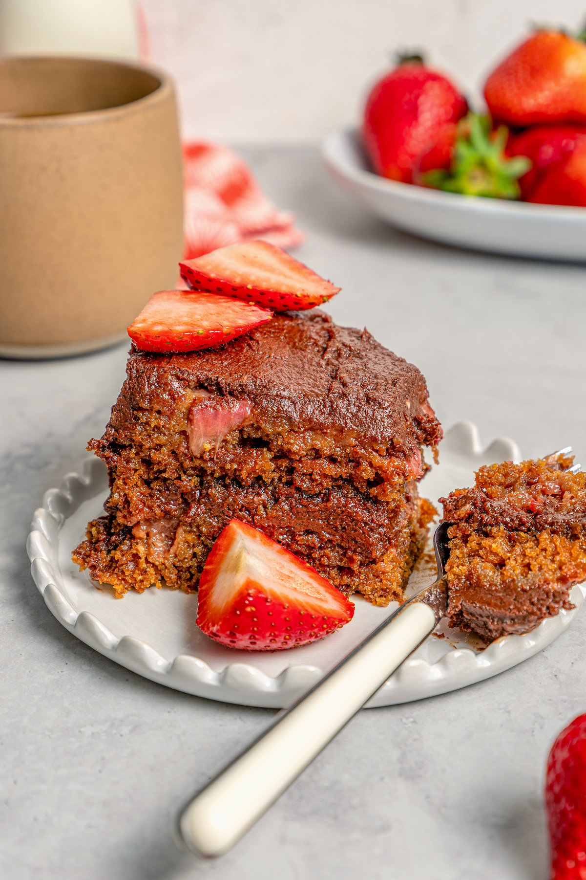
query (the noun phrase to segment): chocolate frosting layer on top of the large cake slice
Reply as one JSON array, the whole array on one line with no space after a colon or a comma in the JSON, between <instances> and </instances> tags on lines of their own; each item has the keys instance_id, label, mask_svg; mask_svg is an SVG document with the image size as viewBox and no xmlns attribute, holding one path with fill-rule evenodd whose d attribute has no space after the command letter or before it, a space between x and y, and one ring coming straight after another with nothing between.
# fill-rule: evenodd
<instances>
[{"instance_id":1,"label":"chocolate frosting layer on top of the large cake slice","mask_svg":"<svg viewBox=\"0 0 586 880\"><path fill-rule=\"evenodd\" d=\"M131 350L131 385L185 385L246 400L255 421L340 432L408 455L441 437L425 380L367 330L336 326L316 309L275 315L219 348L185 354ZM177 393L179 389L177 388Z\"/></svg>"}]
</instances>

